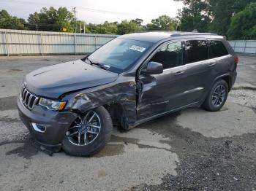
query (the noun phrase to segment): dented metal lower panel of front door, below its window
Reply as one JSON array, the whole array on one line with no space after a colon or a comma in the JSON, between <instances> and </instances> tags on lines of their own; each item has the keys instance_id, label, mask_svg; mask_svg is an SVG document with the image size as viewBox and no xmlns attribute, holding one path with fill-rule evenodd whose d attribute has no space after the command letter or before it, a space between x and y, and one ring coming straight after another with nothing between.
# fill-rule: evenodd
<instances>
[{"instance_id":1,"label":"dented metal lower panel of front door, below its window","mask_svg":"<svg viewBox=\"0 0 256 191\"><path fill-rule=\"evenodd\" d=\"M184 104L187 66L165 70L163 74L140 76L138 120L168 112Z\"/></svg>"}]
</instances>

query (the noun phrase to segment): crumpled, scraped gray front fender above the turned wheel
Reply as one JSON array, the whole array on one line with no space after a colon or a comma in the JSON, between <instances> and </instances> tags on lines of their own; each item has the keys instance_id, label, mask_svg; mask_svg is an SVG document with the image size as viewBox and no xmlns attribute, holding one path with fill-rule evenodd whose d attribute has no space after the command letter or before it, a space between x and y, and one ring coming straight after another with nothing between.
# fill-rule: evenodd
<instances>
[{"instance_id":1,"label":"crumpled, scraped gray front fender above the turned wheel","mask_svg":"<svg viewBox=\"0 0 256 191\"><path fill-rule=\"evenodd\" d=\"M77 93L70 101L68 109L86 112L102 105L121 104L127 123L136 121L136 83L135 81L111 83L93 87Z\"/></svg>"}]
</instances>

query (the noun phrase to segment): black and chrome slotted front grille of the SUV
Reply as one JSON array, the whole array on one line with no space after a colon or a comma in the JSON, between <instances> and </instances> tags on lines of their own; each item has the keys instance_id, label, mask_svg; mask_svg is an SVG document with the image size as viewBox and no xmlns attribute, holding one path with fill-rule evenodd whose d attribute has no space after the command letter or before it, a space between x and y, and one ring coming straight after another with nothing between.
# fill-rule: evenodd
<instances>
[{"instance_id":1,"label":"black and chrome slotted front grille of the SUV","mask_svg":"<svg viewBox=\"0 0 256 191\"><path fill-rule=\"evenodd\" d=\"M32 109L34 104L37 104L38 97L29 92L24 85L21 87L20 98L26 108Z\"/></svg>"}]
</instances>

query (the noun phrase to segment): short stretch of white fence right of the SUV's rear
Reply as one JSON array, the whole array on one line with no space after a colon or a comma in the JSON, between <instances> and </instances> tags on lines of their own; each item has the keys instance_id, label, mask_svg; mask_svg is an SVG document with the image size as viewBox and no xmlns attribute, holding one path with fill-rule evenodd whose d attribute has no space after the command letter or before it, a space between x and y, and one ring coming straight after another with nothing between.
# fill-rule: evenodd
<instances>
[{"instance_id":1,"label":"short stretch of white fence right of the SUV's rear","mask_svg":"<svg viewBox=\"0 0 256 191\"><path fill-rule=\"evenodd\" d=\"M229 43L235 52L256 54L256 40L237 40L229 41Z\"/></svg>"}]
</instances>

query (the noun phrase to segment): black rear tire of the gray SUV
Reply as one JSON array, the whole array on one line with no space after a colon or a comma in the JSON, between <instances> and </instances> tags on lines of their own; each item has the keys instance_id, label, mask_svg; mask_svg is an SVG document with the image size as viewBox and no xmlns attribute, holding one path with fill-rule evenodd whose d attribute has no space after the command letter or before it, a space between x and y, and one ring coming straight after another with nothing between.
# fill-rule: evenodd
<instances>
[{"instance_id":1,"label":"black rear tire of the gray SUV","mask_svg":"<svg viewBox=\"0 0 256 191\"><path fill-rule=\"evenodd\" d=\"M213 104L213 95L214 91L217 90L217 87L225 87L225 96L223 96L222 98L222 103L221 104ZM224 92L224 89L222 89ZM219 109L222 109L222 106L224 106L225 102L227 101L227 95L228 95L228 85L227 82L225 82L225 80L220 79L219 81L217 81L213 87L211 88L211 91L208 93L206 100L203 103L203 108L208 110L209 112L217 112L219 111Z\"/></svg>"}]
</instances>

